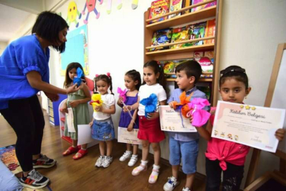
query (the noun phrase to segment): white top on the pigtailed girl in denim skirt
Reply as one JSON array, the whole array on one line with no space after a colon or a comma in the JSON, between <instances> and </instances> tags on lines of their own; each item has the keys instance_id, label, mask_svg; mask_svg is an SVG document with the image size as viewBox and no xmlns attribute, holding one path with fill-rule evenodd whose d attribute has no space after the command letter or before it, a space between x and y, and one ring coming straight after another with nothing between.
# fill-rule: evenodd
<instances>
[{"instance_id":1,"label":"white top on the pigtailed girl in denim skirt","mask_svg":"<svg viewBox=\"0 0 286 191\"><path fill-rule=\"evenodd\" d=\"M111 105L115 105L115 98L110 93L107 93L105 95L101 95L101 99L103 100L102 108L109 109ZM110 116L111 116L110 114L107 114L104 112L93 111L93 118L95 118L95 120L106 120Z\"/></svg>"}]
</instances>

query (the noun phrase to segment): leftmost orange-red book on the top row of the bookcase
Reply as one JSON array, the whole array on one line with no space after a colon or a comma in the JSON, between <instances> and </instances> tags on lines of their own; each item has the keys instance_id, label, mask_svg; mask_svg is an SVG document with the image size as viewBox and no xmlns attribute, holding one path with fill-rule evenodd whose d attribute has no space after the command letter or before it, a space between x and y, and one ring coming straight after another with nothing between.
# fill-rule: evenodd
<instances>
[{"instance_id":1,"label":"leftmost orange-red book on the top row of the bookcase","mask_svg":"<svg viewBox=\"0 0 286 191\"><path fill-rule=\"evenodd\" d=\"M149 18L156 18L165 15L166 13L169 13L169 0L157 0L152 2ZM150 23L164 21L165 19L167 19L167 16L150 21Z\"/></svg>"}]
</instances>

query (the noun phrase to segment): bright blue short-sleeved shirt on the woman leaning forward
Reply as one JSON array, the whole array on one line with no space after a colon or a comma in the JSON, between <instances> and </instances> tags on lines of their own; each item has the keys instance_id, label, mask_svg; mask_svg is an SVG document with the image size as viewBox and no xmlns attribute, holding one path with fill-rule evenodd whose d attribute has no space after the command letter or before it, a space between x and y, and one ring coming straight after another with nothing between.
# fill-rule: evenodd
<instances>
[{"instance_id":1,"label":"bright blue short-sleeved shirt on the woman leaning forward","mask_svg":"<svg viewBox=\"0 0 286 191\"><path fill-rule=\"evenodd\" d=\"M11 42L0 57L0 109L8 108L8 100L30 98L39 90L32 88L26 74L38 71L49 83L49 48L46 54L36 35Z\"/></svg>"}]
</instances>

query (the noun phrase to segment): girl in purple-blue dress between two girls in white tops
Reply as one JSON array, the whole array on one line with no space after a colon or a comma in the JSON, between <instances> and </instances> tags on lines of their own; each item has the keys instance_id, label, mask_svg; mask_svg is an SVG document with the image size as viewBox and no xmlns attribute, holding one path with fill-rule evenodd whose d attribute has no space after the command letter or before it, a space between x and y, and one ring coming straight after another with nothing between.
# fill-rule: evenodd
<instances>
[{"instance_id":1,"label":"girl in purple-blue dress between two girls in white tops","mask_svg":"<svg viewBox=\"0 0 286 191\"><path fill-rule=\"evenodd\" d=\"M133 105L138 100L138 90L141 86L141 75L136 70L127 71L124 76L125 86L129 91L126 93L126 100L125 105ZM121 108L123 107L122 104L123 98L120 97L117 101L117 105L119 105ZM131 132L133 129L138 129L138 117L137 117L138 110L131 111L132 118L129 116L128 112L124 112L122 110L119 120L119 127L126 127L129 132ZM137 126L134 126L134 122ZM119 161L126 161L126 159L131 158L128 166L134 166L135 163L138 161L138 145L133 145L133 155L131 151L131 144L126 144L127 150L125 153L119 158ZM132 156L131 156L132 155Z\"/></svg>"}]
</instances>

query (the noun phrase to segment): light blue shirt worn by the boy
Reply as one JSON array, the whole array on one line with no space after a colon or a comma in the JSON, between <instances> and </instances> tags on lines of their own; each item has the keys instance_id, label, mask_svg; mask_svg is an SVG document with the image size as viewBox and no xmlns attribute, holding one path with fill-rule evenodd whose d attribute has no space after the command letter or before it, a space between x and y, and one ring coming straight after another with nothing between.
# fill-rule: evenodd
<instances>
[{"instance_id":1,"label":"light blue shirt worn by the boy","mask_svg":"<svg viewBox=\"0 0 286 191\"><path fill-rule=\"evenodd\" d=\"M203 98L203 99L207 98L205 96L205 93L203 93L202 91L199 91L196 88L196 86L193 87L191 90L187 91L186 96L190 96L192 92L193 92L193 96L191 96L191 100L193 100L193 98ZM179 96L181 96L181 93L183 93L183 91L179 88L172 91L172 95L167 100L167 103L170 103L172 101L177 101L178 103L180 103ZM209 110L209 107L205 106L205 108L203 109ZM198 132L168 132L168 134L170 137L173 137L177 141L193 141L199 138Z\"/></svg>"}]
</instances>

